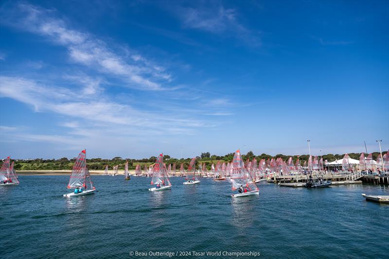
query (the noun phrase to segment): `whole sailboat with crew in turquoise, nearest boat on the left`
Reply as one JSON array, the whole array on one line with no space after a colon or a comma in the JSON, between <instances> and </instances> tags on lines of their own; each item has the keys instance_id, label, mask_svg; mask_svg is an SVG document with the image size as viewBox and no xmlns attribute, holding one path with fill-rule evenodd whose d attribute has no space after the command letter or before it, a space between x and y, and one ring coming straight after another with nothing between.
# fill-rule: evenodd
<instances>
[{"instance_id":1,"label":"whole sailboat with crew in turquoise, nearest boat on the left","mask_svg":"<svg viewBox=\"0 0 389 259\"><path fill-rule=\"evenodd\" d=\"M71 170L68 189L72 188L74 188L74 192L64 194L64 197L93 194L94 191L96 191L88 170L86 149L82 150L80 154L78 154L77 160L73 165L73 170Z\"/></svg>"}]
</instances>

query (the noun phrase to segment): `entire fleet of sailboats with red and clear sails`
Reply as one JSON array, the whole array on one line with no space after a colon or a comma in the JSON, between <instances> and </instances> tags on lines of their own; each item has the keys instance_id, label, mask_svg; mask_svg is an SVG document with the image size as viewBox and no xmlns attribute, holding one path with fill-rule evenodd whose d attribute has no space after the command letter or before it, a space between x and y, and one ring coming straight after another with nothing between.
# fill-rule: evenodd
<instances>
[{"instance_id":1,"label":"entire fleet of sailboats with red and clear sails","mask_svg":"<svg viewBox=\"0 0 389 259\"><path fill-rule=\"evenodd\" d=\"M345 154L341 167L344 171L353 170L355 168L355 162L348 154ZM327 160L325 161L326 165ZM365 153L361 153L359 158L358 170L376 170L383 169L389 170L389 151L386 154L379 155L376 161L373 161L372 153L365 157ZM105 171L102 175L117 175L119 165L113 166L113 174L108 172L108 165L105 167ZM185 176L184 185L200 183L201 177L214 177L213 180L224 180L230 178L232 184L232 190L238 190L239 193L231 194L232 197L242 197L248 195L259 194L259 188L256 185L257 182L266 180L266 178L278 176L288 176L294 174L300 174L305 172L312 173L315 171L324 170L323 158L319 159L318 156L309 156L307 161L304 161L301 166L300 158L293 162L293 158L289 157L283 160L281 157L270 159L261 159L257 162L254 157L251 161L249 159L246 162L243 161L240 154L240 150L237 150L234 154L232 162L218 161L216 166L212 163L211 171L208 171L206 163L198 164L198 170L196 171L196 158L193 158L188 166L188 169L184 169L184 164L180 164L179 176ZM141 165L136 165L135 174L137 176L152 176L151 185L155 187L149 188L149 191L162 191L171 189L172 184L170 182L170 175L176 174L176 163L169 164L166 168L166 164L163 162L163 154L160 154L157 161L150 165L147 169L147 165L144 164L143 171ZM130 172L128 170L128 161L124 165L124 177L130 179ZM10 157L7 157L2 163L0 169L0 185L1 186L15 186L19 184L18 176L14 170L14 162L11 163ZM69 179L68 189L74 189L72 193L64 194L65 197L82 196L86 194L93 194L95 187L90 177L88 165L86 162L86 150L82 150L71 171Z\"/></svg>"}]
</instances>

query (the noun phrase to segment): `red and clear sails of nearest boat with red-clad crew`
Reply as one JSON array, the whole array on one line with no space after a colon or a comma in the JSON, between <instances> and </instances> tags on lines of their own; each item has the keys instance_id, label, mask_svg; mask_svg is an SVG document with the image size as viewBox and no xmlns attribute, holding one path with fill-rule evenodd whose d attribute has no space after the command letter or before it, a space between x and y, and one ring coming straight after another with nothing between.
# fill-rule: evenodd
<instances>
[{"instance_id":1,"label":"red and clear sails of nearest boat with red-clad crew","mask_svg":"<svg viewBox=\"0 0 389 259\"><path fill-rule=\"evenodd\" d=\"M259 190L243 163L239 149L236 150L232 160L231 182L232 190L236 190L241 186L248 188L249 192Z\"/></svg>"}]
</instances>

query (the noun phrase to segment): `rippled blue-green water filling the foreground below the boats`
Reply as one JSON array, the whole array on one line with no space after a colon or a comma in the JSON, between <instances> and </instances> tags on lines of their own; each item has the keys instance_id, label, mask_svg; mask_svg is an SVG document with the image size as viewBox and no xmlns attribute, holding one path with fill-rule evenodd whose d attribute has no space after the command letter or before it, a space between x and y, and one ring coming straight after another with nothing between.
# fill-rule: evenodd
<instances>
[{"instance_id":1,"label":"rippled blue-green water filling the foreground below the boats","mask_svg":"<svg viewBox=\"0 0 389 259\"><path fill-rule=\"evenodd\" d=\"M151 193L150 178L92 179L98 192L72 199L62 197L69 192L65 176L20 176L20 186L0 188L1 258L141 258L130 251L388 255L389 206L361 196L389 195L388 186L307 190L261 183L259 197L232 200L228 181L184 186L175 177L172 190Z\"/></svg>"}]
</instances>

